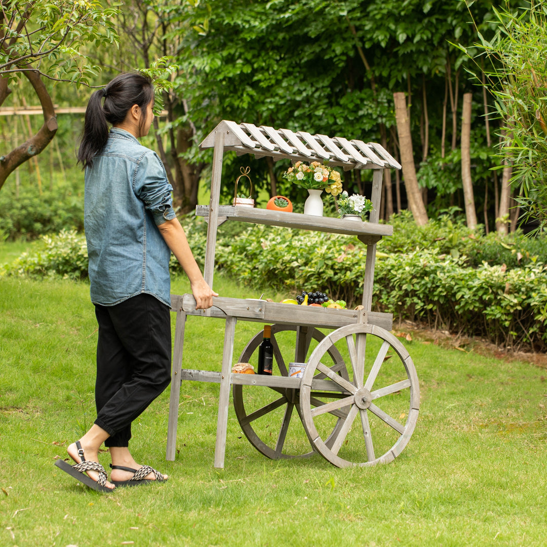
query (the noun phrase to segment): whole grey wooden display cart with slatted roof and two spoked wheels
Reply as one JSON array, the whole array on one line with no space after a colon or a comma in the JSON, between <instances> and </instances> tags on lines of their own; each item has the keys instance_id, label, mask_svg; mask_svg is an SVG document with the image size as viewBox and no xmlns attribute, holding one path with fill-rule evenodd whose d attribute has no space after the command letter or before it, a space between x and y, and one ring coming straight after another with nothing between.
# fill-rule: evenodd
<instances>
[{"instance_id":1,"label":"whole grey wooden display cart with slatted roof and two spoked wheels","mask_svg":"<svg viewBox=\"0 0 547 547\"><path fill-rule=\"evenodd\" d=\"M317 230L356 235L366 245L362 310L333 310L314 306L278 304L265 300L237 298L213 299L210 310L195 310L193 295L172 295L176 312L171 399L167 433L167 459L174 460L179 396L184 380L220 384L217 439L214 467L224 467L230 387L234 408L243 433L251 444L270 458L307 457L318 452L338 467L374 465L392 461L404 449L414 431L420 408L420 389L409 353L390 333L392 315L371 311L376 243L393 232L392 226L379 224L382 173L400 165L379 144L348 141L341 137L310 135L269 126L238 125L223 120L200 145L214 148L211 201L198 205L196 214L208 221L205 254L205 280L213 287L214 256L218 226L226 221L284 226L296 230ZM265 209L220 206L222 161L225 150L274 160L306 162L328 160L330 166L345 171L372 169L371 201L374 210L369 222L316 217ZM188 316L225 320L224 350L220 372L182 368L184 327ZM271 324L271 341L277 370L272 376L231 372L237 321ZM325 335L321 330L328 329ZM294 360L306 362L301 378L288 376L293 354L283 355L277 340L294 335ZM262 329L253 336L237 359L249 362L262 340ZM337 342L341 344L336 346ZM344 344L345 342L345 344ZM315 347L313 347L315 346ZM340 347L344 349L341 352ZM342 356L345 354L345 358ZM275 368L275 365L274 365ZM264 399L249 395L261 389ZM328 402L330 401L330 402ZM294 410L296 412L294 412ZM280 415L281 425L272 435L270 425L260 421ZM295 453L290 444L289 423L298 415L311 444ZM359 416L359 418L357 418ZM266 428L266 429L265 429ZM307 443L306 443L307 445Z\"/></svg>"}]
</instances>

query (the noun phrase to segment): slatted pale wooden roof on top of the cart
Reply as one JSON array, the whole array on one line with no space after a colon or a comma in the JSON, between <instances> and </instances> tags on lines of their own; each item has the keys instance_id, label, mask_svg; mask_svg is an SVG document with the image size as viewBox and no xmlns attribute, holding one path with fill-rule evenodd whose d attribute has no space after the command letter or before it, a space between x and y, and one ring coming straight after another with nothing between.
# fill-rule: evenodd
<instances>
[{"instance_id":1,"label":"slatted pale wooden roof on top of the cart","mask_svg":"<svg viewBox=\"0 0 547 547\"><path fill-rule=\"evenodd\" d=\"M254 154L256 158L271 156L275 160L289 158L301 161L328 161L345 171L350 169L400 169L401 166L385 148L375 142L364 143L358 139L310 135L306 131L274 129L268 125L236 124L222 120L203 142L200 149L214 147L214 136L225 132L224 149L235 150L237 155Z\"/></svg>"}]
</instances>

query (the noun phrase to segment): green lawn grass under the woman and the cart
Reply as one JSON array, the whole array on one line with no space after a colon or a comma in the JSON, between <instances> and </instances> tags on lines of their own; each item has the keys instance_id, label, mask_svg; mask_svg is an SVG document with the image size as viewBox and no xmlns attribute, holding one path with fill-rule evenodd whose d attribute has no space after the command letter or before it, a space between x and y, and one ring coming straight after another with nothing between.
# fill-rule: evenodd
<instances>
[{"instance_id":1,"label":"green lawn grass under the woman and the cart","mask_svg":"<svg viewBox=\"0 0 547 547\"><path fill-rule=\"evenodd\" d=\"M222 278L215 288L257 296ZM176 278L172 290L188 283ZM237 324L234 359L260 327ZM185 366L219 370L223 332L220 319L190 317ZM404 342L421 408L394 462L267 459L230 407L225 469L216 470L218 385L186 382L174 462L165 460L169 389L133 427L137 461L168 482L100 494L54 467L95 417L89 286L0 277L0 545L543 546L545 371Z\"/></svg>"}]
</instances>

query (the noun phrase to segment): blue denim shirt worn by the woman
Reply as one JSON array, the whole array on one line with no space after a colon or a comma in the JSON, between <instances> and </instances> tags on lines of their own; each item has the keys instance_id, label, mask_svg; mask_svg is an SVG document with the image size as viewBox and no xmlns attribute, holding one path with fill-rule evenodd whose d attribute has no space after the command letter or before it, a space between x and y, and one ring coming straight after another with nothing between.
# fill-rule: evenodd
<instances>
[{"instance_id":1,"label":"blue denim shirt worn by the woman","mask_svg":"<svg viewBox=\"0 0 547 547\"><path fill-rule=\"evenodd\" d=\"M113 127L85 170L84 229L91 301L113 306L147 293L170 305L171 251L156 226L176 218L158 156Z\"/></svg>"}]
</instances>

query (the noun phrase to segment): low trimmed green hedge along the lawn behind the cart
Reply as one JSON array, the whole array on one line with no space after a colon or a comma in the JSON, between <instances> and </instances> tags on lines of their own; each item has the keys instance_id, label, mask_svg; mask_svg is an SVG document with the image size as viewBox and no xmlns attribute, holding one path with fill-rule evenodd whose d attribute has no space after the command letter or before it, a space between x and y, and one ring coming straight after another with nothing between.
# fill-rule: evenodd
<instances>
[{"instance_id":1,"label":"low trimmed green hedge along the lawn behind the cart","mask_svg":"<svg viewBox=\"0 0 547 547\"><path fill-rule=\"evenodd\" d=\"M262 225L236 232L226 224L217 240L216 263L239 283L266 290L266 296L268 287L272 294L285 292L287 297L313 288L350 306L360 303L366 246L356 237ZM377 246L374 310L506 347L547 348L547 266L531 252L542 252L545 238L485 238L442 219L423 228L406 222L397 230L406 231L406 243L398 235ZM206 224L194 219L185 231L202 266ZM473 267L469 255L484 256L481 249L488 245L492 262L497 255L509 264L484 260ZM180 271L174 257L171 265ZM42 237L34 252L22 255L8 273L85 278L85 238L75 231Z\"/></svg>"}]
</instances>

